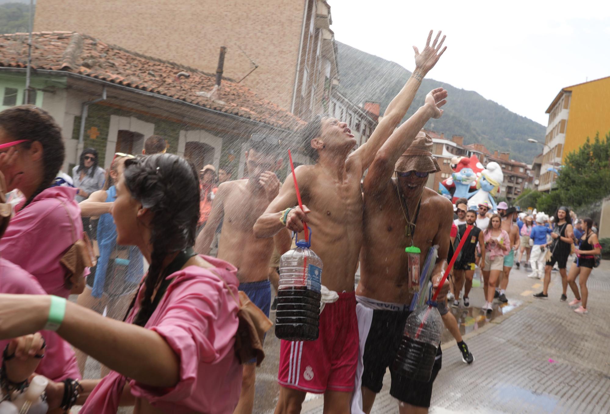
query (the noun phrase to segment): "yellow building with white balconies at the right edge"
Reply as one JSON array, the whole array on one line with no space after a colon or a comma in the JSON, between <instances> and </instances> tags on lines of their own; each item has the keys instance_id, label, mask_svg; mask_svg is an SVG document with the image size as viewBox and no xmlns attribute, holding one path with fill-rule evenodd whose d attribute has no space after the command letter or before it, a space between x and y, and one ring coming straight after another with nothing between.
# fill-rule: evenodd
<instances>
[{"instance_id":1,"label":"yellow building with white balconies at the right edge","mask_svg":"<svg viewBox=\"0 0 610 414\"><path fill-rule=\"evenodd\" d=\"M580 148L587 137L610 132L610 76L562 88L549 105L547 135L540 174L540 191L550 190L556 168L570 152Z\"/></svg>"}]
</instances>

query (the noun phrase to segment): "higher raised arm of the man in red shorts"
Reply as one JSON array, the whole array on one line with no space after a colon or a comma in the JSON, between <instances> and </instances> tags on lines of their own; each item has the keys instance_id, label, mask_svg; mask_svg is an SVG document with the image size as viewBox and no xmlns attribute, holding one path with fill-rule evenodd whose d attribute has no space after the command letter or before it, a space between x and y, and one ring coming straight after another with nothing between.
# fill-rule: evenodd
<instances>
[{"instance_id":1,"label":"higher raised arm of the man in red shorts","mask_svg":"<svg viewBox=\"0 0 610 414\"><path fill-rule=\"evenodd\" d=\"M368 168L375 159L375 154L379 151L379 148L386 142L387 138L392 134L393 130L396 128L398 123L404 118L404 115L407 113L409 106L411 106L411 102L413 102L413 98L415 98L415 93L417 93L420 84L422 84L422 79L426 76L429 70L434 68L436 62L439 60L440 55L445 52L447 46L440 50L443 45L443 41L445 41L445 36L443 36L440 43L437 45L440 37L439 34L436 35L434 39L434 43L430 46L430 40L432 39L432 30L428 34L428 40L426 41L426 47L423 49L422 53L418 51L418 49L413 46L415 50L415 70L407 80L407 83L404 85L403 89L392 99L392 102L388 105L386 112L378 124L378 126L373 131L373 134L368 138L367 142L362 144L360 148L356 149L351 157L358 157L362 162L362 171ZM440 50L440 52L439 52Z\"/></svg>"}]
</instances>

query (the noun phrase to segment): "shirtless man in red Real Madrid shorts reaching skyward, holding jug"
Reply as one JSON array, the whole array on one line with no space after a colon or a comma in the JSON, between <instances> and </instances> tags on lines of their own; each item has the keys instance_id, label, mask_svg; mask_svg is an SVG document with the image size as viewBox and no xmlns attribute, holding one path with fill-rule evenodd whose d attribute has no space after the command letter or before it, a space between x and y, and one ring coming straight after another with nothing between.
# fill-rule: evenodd
<instances>
[{"instance_id":1,"label":"shirtless man in red Real Madrid shorts reaching skyward, holding jug","mask_svg":"<svg viewBox=\"0 0 610 414\"><path fill-rule=\"evenodd\" d=\"M346 123L321 116L307 124L303 144L315 164L302 165L295 171L303 210L295 207L295 185L289 176L254 226L258 237L270 237L284 227L301 232L305 221L312 229L312 250L324 263L321 282L339 293L338 301L326 304L320 314L318 340L281 341L278 381L282 387L276 414L301 412L307 391L324 394L325 413L350 413L358 359L354 275L362 246L362 174L445 50L440 50L444 40L438 42L440 32L432 46L431 37L432 32L421 54L414 48L415 71L388 105L371 137L356 151L351 152L356 140ZM282 221L286 209L292 210Z\"/></svg>"}]
</instances>

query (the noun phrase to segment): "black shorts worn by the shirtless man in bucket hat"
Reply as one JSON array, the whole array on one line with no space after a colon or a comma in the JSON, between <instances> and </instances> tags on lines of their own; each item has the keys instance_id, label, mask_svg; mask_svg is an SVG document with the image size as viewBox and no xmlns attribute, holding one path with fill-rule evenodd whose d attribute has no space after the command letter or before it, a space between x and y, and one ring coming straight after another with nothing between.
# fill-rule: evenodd
<instances>
[{"instance_id":1,"label":"black shorts worn by the shirtless man in bucket hat","mask_svg":"<svg viewBox=\"0 0 610 414\"><path fill-rule=\"evenodd\" d=\"M436 351L436 361L428 382L408 379L393 369L396 353L403 338L404 324L410 313L409 311L373 310L373 319L364 346L362 386L379 393L383 386L386 369L389 367L392 376L390 395L415 407L429 407L432 398L432 383L436 379L442 363L440 346Z\"/></svg>"}]
</instances>

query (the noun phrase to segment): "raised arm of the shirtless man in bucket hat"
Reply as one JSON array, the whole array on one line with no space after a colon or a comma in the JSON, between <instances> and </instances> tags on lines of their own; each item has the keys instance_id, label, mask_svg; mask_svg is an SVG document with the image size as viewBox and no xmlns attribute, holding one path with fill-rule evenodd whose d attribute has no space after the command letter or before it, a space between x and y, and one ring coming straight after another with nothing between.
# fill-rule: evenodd
<instances>
[{"instance_id":1,"label":"raised arm of the shirtless man in bucket hat","mask_svg":"<svg viewBox=\"0 0 610 414\"><path fill-rule=\"evenodd\" d=\"M390 138L379 148L368 174L364 179L365 191L382 191L380 182L386 182L392 177L394 165L404 151L409 148L417 133L428 122L430 118L440 118L443 110L440 109L447 103L447 91L436 88L426 95L425 102L411 118L404 122Z\"/></svg>"}]
</instances>

